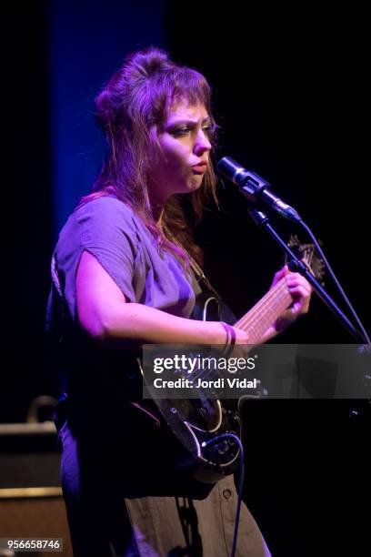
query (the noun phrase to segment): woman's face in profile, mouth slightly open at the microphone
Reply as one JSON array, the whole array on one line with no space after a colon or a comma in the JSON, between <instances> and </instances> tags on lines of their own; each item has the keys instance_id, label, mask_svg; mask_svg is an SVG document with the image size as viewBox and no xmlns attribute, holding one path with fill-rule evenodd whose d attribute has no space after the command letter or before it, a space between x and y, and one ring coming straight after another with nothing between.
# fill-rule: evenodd
<instances>
[{"instance_id":1,"label":"woman's face in profile, mouth slightly open at the microphone","mask_svg":"<svg viewBox=\"0 0 371 557\"><path fill-rule=\"evenodd\" d=\"M186 101L171 106L164 126L157 131L161 149L154 149L149 172L149 191L154 202L164 203L175 193L201 186L209 164L210 118L206 107Z\"/></svg>"}]
</instances>

